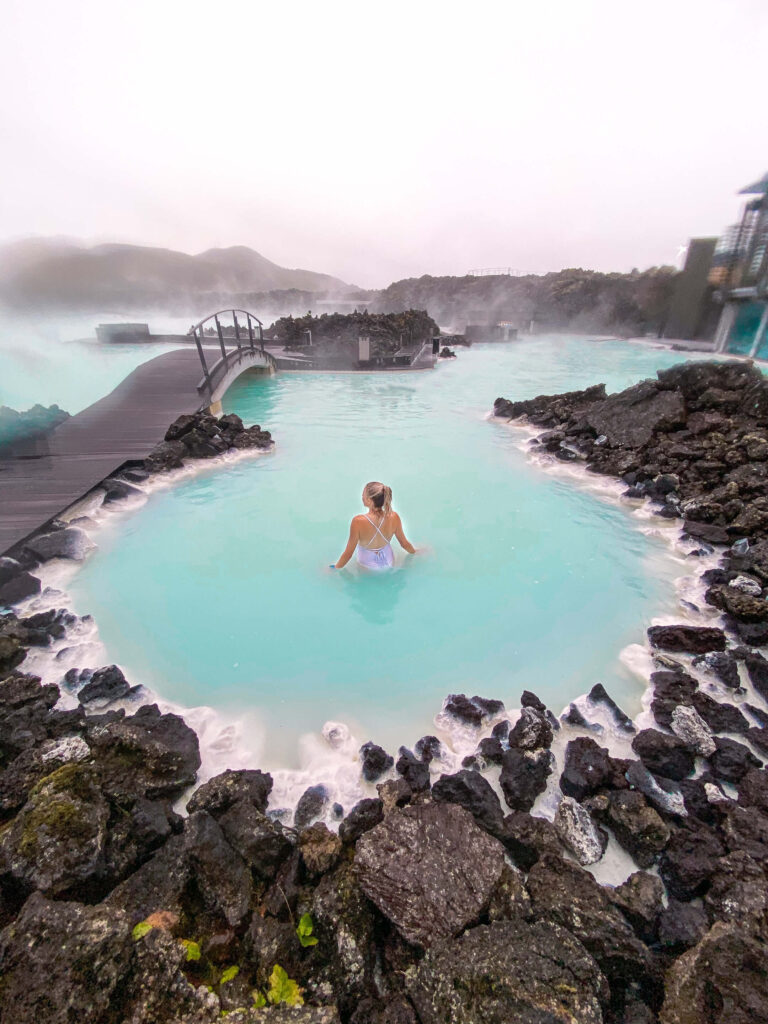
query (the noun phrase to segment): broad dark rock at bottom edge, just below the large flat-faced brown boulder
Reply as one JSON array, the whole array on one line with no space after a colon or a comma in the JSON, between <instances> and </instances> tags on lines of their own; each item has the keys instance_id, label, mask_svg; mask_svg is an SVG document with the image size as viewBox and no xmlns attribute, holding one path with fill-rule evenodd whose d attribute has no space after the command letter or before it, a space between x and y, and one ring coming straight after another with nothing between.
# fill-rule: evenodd
<instances>
[{"instance_id":1,"label":"broad dark rock at bottom edge, just below the large flat-faced brown boulder","mask_svg":"<svg viewBox=\"0 0 768 1024\"><path fill-rule=\"evenodd\" d=\"M430 950L406 978L422 1024L601 1024L605 979L546 922L497 922Z\"/></svg>"}]
</instances>

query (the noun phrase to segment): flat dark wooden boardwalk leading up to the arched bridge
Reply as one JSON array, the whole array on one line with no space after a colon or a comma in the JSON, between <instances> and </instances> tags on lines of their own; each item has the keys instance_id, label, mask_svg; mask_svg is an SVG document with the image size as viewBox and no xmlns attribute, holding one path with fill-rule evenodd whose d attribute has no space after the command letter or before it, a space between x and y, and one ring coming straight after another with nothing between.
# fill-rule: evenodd
<instances>
[{"instance_id":1,"label":"flat dark wooden boardwalk leading up to the arched bridge","mask_svg":"<svg viewBox=\"0 0 768 1024\"><path fill-rule=\"evenodd\" d=\"M61 424L36 458L0 458L0 553L54 518L125 462L143 459L182 413L207 404L195 349L158 355Z\"/></svg>"}]
</instances>

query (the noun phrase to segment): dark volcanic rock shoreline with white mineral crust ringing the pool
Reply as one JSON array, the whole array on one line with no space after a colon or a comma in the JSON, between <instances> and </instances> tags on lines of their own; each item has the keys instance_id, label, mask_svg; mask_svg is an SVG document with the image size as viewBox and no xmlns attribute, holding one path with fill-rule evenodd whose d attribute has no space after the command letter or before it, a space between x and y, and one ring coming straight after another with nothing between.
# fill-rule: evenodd
<instances>
[{"instance_id":1,"label":"dark volcanic rock shoreline with white mineral crust ringing the pool","mask_svg":"<svg viewBox=\"0 0 768 1024\"><path fill-rule=\"evenodd\" d=\"M768 1020L768 387L740 362L658 378L495 407L680 517L699 554L722 546L712 622L648 631L657 727L599 684L594 715L560 719L529 691L511 715L453 694L441 717L476 742L461 766L436 736L396 759L366 743L371 795L351 808L310 786L289 825L271 777L242 770L181 816L195 732L157 706L111 710L130 690L115 667L67 680L78 707L60 710L24 662L69 613L2 616L0 1022ZM182 426L164 445L195 432L185 453L215 450ZM180 458L165 446L138 472ZM40 543L0 562L11 595ZM553 820L531 813L548 787ZM591 873L606 848L636 865L621 885Z\"/></svg>"}]
</instances>

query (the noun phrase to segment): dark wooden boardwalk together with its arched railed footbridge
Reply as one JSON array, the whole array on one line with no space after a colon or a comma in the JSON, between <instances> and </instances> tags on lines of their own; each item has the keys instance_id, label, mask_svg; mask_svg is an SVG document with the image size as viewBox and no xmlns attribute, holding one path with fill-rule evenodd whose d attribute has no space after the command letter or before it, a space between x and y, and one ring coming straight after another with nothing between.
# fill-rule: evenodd
<instances>
[{"instance_id":1,"label":"dark wooden boardwalk together with its arched railed footbridge","mask_svg":"<svg viewBox=\"0 0 768 1024\"><path fill-rule=\"evenodd\" d=\"M225 323L231 314L231 324ZM126 463L144 459L182 413L218 408L249 370L271 373L262 325L218 310L189 330L191 344L156 355L115 390L70 417L34 451L0 455L0 554L13 548Z\"/></svg>"}]
</instances>

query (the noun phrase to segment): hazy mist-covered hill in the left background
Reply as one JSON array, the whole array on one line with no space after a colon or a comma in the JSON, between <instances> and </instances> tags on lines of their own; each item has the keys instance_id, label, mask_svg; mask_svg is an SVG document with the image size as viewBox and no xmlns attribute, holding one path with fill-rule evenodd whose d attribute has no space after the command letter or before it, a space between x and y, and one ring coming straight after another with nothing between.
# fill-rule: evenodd
<instances>
[{"instance_id":1,"label":"hazy mist-covered hill in the left background","mask_svg":"<svg viewBox=\"0 0 768 1024\"><path fill-rule=\"evenodd\" d=\"M0 246L0 301L16 308L96 311L168 308L179 302L208 308L218 298L288 289L325 293L349 286L327 273L279 266L246 246L195 256L58 239Z\"/></svg>"}]
</instances>

